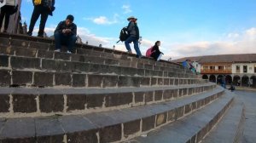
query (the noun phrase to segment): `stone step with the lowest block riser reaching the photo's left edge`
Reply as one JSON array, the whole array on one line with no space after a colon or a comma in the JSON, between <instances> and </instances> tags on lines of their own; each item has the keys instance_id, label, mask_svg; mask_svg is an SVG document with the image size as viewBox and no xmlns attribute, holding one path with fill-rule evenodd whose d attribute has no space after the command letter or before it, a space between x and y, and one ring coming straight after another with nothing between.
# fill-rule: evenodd
<instances>
[{"instance_id":1,"label":"stone step with the lowest block riser reaching the photo's left edge","mask_svg":"<svg viewBox=\"0 0 256 143\"><path fill-rule=\"evenodd\" d=\"M215 88L213 83L119 89L0 88L0 117L102 112L177 100Z\"/></svg>"}]
</instances>

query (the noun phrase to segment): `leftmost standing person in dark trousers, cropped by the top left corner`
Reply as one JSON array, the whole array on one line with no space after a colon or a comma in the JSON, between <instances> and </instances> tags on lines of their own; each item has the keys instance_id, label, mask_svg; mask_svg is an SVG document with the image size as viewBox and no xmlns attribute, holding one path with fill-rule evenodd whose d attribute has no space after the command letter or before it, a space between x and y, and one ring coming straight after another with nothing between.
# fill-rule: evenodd
<instances>
[{"instance_id":1,"label":"leftmost standing person in dark trousers, cropped by the top left corner","mask_svg":"<svg viewBox=\"0 0 256 143\"><path fill-rule=\"evenodd\" d=\"M3 7L1 8L1 13L0 13L0 30L2 29L2 26L3 26L3 18L5 17L3 32L7 32L7 29L9 26L9 17L11 14L15 14L17 10L18 10L17 0L7 0L5 2L5 5L3 5Z\"/></svg>"}]
</instances>

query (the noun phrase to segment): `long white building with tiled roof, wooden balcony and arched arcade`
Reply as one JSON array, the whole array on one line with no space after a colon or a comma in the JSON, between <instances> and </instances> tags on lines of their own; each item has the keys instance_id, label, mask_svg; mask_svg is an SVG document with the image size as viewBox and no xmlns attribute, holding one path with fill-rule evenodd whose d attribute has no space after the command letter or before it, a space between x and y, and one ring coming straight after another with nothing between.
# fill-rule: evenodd
<instances>
[{"instance_id":1,"label":"long white building with tiled roof, wooden balcony and arched arcade","mask_svg":"<svg viewBox=\"0 0 256 143\"><path fill-rule=\"evenodd\" d=\"M185 57L174 62L191 60L198 64L197 72L203 79L220 83L225 77L227 84L256 88L256 54L220 54L197 57Z\"/></svg>"}]
</instances>

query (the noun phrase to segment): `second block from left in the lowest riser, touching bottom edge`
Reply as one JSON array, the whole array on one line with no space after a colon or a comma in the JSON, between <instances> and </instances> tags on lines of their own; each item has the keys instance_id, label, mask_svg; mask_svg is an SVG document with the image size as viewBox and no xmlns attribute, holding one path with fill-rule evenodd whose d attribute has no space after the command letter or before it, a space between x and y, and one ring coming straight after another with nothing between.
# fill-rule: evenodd
<instances>
[{"instance_id":1,"label":"second block from left in the lowest riser, touching bottom edge","mask_svg":"<svg viewBox=\"0 0 256 143\"><path fill-rule=\"evenodd\" d=\"M105 127L100 129L100 142L113 142L121 140L122 127L121 124Z\"/></svg>"}]
</instances>

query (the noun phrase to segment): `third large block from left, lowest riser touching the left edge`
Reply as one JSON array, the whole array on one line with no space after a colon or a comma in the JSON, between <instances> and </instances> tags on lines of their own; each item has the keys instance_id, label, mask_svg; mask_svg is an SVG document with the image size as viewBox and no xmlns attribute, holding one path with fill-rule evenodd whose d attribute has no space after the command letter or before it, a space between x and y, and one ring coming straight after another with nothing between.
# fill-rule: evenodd
<instances>
[{"instance_id":1,"label":"third large block from left, lowest riser touching the left edge","mask_svg":"<svg viewBox=\"0 0 256 143\"><path fill-rule=\"evenodd\" d=\"M41 112L63 112L63 94L40 94L39 108Z\"/></svg>"}]
</instances>

